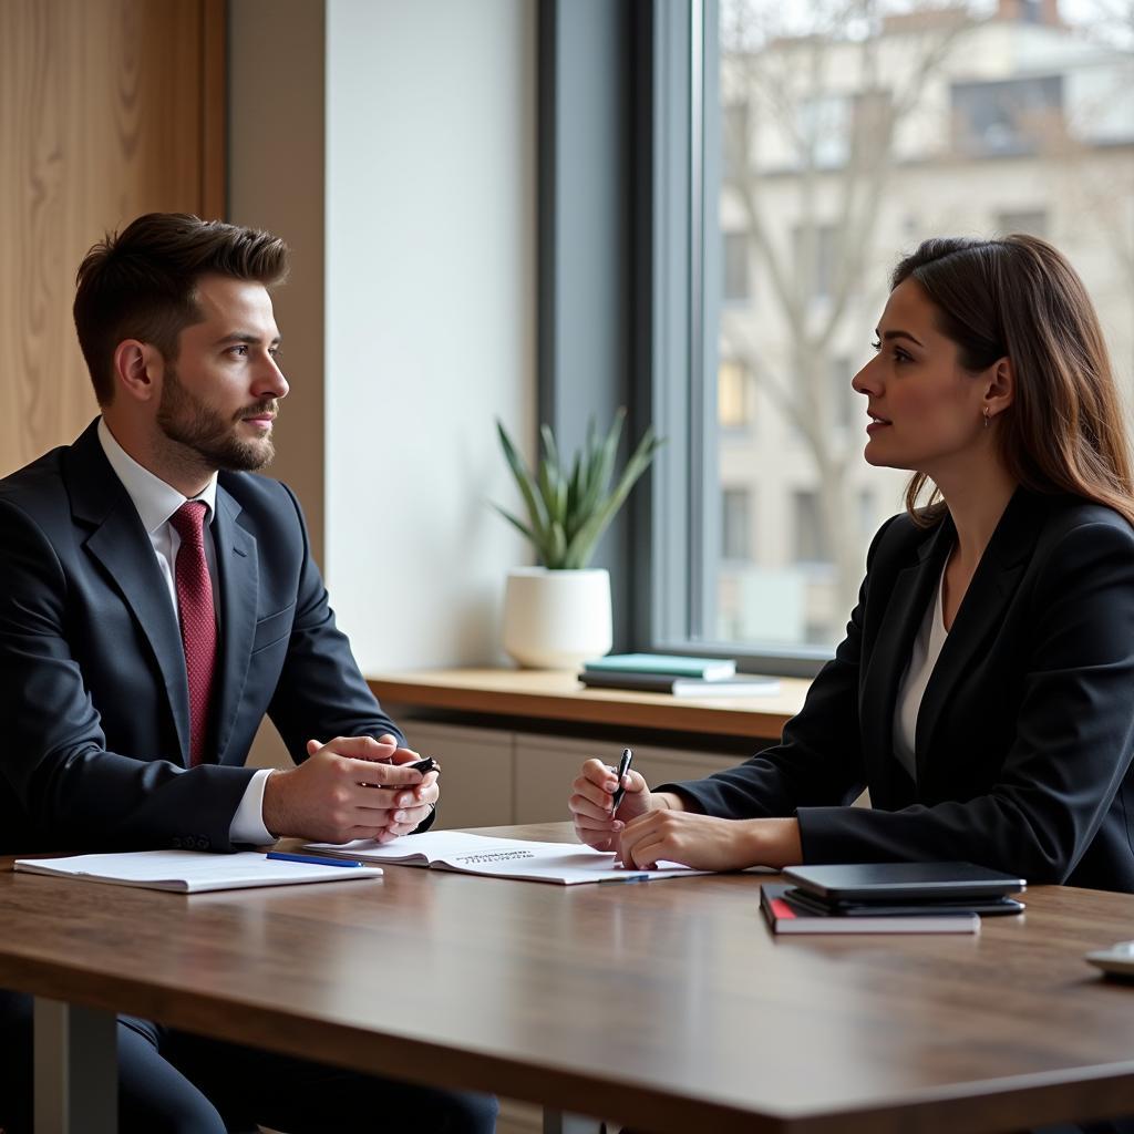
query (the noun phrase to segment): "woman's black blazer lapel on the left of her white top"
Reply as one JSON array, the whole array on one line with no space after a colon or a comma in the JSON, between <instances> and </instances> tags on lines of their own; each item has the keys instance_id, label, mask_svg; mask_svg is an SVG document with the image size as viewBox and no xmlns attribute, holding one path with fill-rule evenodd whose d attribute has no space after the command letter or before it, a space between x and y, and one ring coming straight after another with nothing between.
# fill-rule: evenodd
<instances>
[{"instance_id":1,"label":"woman's black blazer lapel on the left of her white top","mask_svg":"<svg viewBox=\"0 0 1134 1134\"><path fill-rule=\"evenodd\" d=\"M894 810L913 802L913 781L894 755L894 710L925 607L955 540L953 522L946 516L919 544L916 560L895 576L879 621L885 632L871 652L860 704L863 752L875 806Z\"/></svg>"}]
</instances>

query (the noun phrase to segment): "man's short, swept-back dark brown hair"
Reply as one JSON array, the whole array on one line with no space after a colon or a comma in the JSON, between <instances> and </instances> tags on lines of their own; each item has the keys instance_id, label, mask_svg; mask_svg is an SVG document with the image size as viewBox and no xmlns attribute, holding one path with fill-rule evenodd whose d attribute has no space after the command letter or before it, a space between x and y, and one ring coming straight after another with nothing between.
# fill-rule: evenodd
<instances>
[{"instance_id":1,"label":"man's short, swept-back dark brown hair","mask_svg":"<svg viewBox=\"0 0 1134 1134\"><path fill-rule=\"evenodd\" d=\"M146 213L108 234L79 264L74 307L99 405L113 399L115 349L124 339L177 359L181 331L203 319L196 301L202 276L273 287L287 268L288 247L279 237L188 213Z\"/></svg>"}]
</instances>

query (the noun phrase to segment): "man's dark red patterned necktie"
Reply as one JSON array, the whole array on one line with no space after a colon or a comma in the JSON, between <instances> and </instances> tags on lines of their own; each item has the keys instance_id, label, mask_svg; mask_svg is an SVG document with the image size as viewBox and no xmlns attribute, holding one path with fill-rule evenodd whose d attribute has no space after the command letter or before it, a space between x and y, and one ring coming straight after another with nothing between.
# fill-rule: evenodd
<instances>
[{"instance_id":1,"label":"man's dark red patterned necktie","mask_svg":"<svg viewBox=\"0 0 1134 1134\"><path fill-rule=\"evenodd\" d=\"M181 618L185 672L189 680L191 768L204 759L209 703L217 668L217 615L205 560L205 511L206 506L200 500L187 500L169 517L181 538L174 574Z\"/></svg>"}]
</instances>

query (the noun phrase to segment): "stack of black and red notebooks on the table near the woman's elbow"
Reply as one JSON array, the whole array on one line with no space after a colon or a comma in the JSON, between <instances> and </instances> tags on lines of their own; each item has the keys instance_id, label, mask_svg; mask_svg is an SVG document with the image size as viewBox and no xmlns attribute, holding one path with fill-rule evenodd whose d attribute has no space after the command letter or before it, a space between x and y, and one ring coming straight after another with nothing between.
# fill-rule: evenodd
<instances>
[{"instance_id":1,"label":"stack of black and red notebooks on the table near the woman's elbow","mask_svg":"<svg viewBox=\"0 0 1134 1134\"><path fill-rule=\"evenodd\" d=\"M968 862L843 863L784 871L762 886L776 933L972 933L981 914L1016 914L1022 878Z\"/></svg>"}]
</instances>

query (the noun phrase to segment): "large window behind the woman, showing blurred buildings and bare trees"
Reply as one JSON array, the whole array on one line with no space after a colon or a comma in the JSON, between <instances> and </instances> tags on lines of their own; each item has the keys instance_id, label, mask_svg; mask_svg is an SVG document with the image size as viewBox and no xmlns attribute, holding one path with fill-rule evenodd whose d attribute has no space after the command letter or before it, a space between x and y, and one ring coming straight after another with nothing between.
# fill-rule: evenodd
<instances>
[{"instance_id":1,"label":"large window behind the woman, showing blurred buildings and bare trees","mask_svg":"<svg viewBox=\"0 0 1134 1134\"><path fill-rule=\"evenodd\" d=\"M692 432L682 472L659 477L654 525L685 516L688 562L676 575L655 564L668 590L652 637L805 670L837 643L869 540L902 508L905 474L862 459L864 399L849 383L903 252L934 235L1046 236L1085 279L1129 393L1134 22L1105 0L684 11L692 60L675 74L692 109L659 120L689 130L691 168L655 177L694 187L692 340L686 369L658 373L688 383L688 413L665 424ZM741 374L759 435L737 428ZM655 541L655 558L677 550Z\"/></svg>"}]
</instances>

